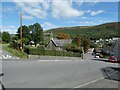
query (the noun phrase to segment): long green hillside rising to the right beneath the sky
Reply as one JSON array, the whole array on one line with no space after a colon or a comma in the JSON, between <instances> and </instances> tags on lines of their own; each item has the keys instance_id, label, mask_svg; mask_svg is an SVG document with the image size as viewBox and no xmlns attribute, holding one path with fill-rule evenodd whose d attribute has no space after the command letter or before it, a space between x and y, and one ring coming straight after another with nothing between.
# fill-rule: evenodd
<instances>
[{"instance_id":1,"label":"long green hillside rising to the right beneath the sky","mask_svg":"<svg viewBox=\"0 0 120 90\"><path fill-rule=\"evenodd\" d=\"M66 33L70 34L72 38L78 35L86 35L91 39L112 38L118 36L118 22L106 23L97 26L61 27L47 30L47 32L52 32L54 37L59 33Z\"/></svg>"}]
</instances>

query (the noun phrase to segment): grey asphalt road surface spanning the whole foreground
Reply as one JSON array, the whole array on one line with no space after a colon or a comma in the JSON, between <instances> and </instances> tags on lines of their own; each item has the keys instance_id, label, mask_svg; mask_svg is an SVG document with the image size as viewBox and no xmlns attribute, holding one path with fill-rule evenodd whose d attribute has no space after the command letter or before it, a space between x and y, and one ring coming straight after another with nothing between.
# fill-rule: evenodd
<instances>
[{"instance_id":1,"label":"grey asphalt road surface spanning the whole foreground","mask_svg":"<svg viewBox=\"0 0 120 90\"><path fill-rule=\"evenodd\" d=\"M45 59L45 57L44 57ZM2 60L5 88L118 88L120 67L106 59Z\"/></svg>"}]
</instances>

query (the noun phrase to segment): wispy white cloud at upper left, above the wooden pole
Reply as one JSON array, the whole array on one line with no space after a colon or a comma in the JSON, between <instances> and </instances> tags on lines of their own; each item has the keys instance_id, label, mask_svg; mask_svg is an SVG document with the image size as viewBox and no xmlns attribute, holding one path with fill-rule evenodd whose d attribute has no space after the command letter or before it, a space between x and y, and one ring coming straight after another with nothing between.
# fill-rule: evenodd
<instances>
[{"instance_id":1,"label":"wispy white cloud at upper left, above the wooden pole","mask_svg":"<svg viewBox=\"0 0 120 90\"><path fill-rule=\"evenodd\" d=\"M24 0L23 0L24 1ZM22 9L23 13L27 13L31 16L43 19L47 16L47 9L49 9L49 3L41 0L41 2L15 2L18 8Z\"/></svg>"}]
</instances>

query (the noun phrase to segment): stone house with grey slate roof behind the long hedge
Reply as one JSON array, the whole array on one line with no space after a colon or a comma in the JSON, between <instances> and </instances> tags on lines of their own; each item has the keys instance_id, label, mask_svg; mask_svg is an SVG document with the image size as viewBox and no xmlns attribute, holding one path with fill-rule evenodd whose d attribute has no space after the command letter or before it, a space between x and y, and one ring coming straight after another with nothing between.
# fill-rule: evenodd
<instances>
[{"instance_id":1,"label":"stone house with grey slate roof behind the long hedge","mask_svg":"<svg viewBox=\"0 0 120 90\"><path fill-rule=\"evenodd\" d=\"M62 50L63 47L72 42L71 39L53 39L51 38L48 42L46 49L50 50Z\"/></svg>"}]
</instances>

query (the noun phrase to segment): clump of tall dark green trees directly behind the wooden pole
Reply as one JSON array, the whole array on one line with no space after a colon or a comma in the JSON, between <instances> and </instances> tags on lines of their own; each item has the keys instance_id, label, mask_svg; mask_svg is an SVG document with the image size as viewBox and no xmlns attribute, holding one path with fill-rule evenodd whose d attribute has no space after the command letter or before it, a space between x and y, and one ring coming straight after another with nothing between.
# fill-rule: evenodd
<instances>
[{"instance_id":1,"label":"clump of tall dark green trees directly behind the wooden pole","mask_svg":"<svg viewBox=\"0 0 120 90\"><path fill-rule=\"evenodd\" d=\"M17 35L18 39L20 39L20 27L18 28ZM43 29L40 24L35 23L33 25L22 26L22 38L23 44L28 45L30 41L35 42L35 46L37 44L43 43Z\"/></svg>"}]
</instances>

